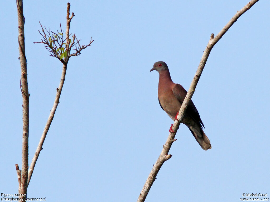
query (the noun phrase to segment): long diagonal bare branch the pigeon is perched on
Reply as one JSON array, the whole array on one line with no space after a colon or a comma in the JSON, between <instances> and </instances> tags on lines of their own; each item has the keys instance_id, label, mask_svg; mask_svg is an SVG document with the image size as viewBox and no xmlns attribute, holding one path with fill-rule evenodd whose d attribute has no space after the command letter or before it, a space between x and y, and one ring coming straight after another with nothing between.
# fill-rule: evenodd
<instances>
[{"instance_id":1,"label":"long diagonal bare branch the pigeon is perched on","mask_svg":"<svg viewBox=\"0 0 270 202\"><path fill-rule=\"evenodd\" d=\"M208 56L210 54L210 51L212 50L212 48L214 47L214 45L221 39L221 37L227 32L227 30L237 21L237 19L243 14L245 13L248 9L251 8L251 6L253 6L256 2L258 2L259 0L253 0L250 1L246 6L244 6L244 8L242 8L240 11L238 11L233 17L232 19L227 23L227 25L225 25L225 27L217 34L216 37L214 37L214 34L211 34L210 40L204 50L204 54L203 57L201 58L201 62L199 64L199 67L195 73L195 76L191 82L190 88L188 90L188 93L184 99L184 102L182 103L182 106L178 112L178 116L177 116L177 120L174 121L172 130L175 131L173 133L170 133L166 143L163 146L163 149L161 151L160 156L157 159L157 162L155 163L155 165L153 166L147 180L146 183L143 186L143 189L141 190L141 193L139 195L139 198L137 200L137 202L142 202L146 199L146 196L152 186L152 184L154 183L157 173L160 170L161 166L163 165L163 163L165 161L167 161L168 159L171 158L171 154L168 154L171 148L171 145L173 144L173 142L175 141L174 137L176 135L176 132L178 130L178 127L181 123L181 120L183 120L184 118L184 114L185 114L185 110L187 109L188 103L191 100L191 97L195 91L195 88L197 86L197 83L200 79L201 73L204 69L204 66L206 64L206 61L208 59Z\"/></svg>"}]
</instances>

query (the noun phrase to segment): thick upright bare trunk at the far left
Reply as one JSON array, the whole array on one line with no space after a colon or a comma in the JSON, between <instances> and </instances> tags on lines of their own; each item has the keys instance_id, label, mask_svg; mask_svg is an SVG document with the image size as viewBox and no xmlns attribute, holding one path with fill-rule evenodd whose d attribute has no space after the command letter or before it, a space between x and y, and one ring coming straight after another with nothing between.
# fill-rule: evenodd
<instances>
[{"instance_id":1,"label":"thick upright bare trunk at the far left","mask_svg":"<svg viewBox=\"0 0 270 202\"><path fill-rule=\"evenodd\" d=\"M23 16L23 3L22 0L16 0L17 13L18 13L18 28L19 28L19 55L21 63L21 82L20 88L22 92L22 122L23 122L23 133L22 133L22 171L19 176L19 167L17 170L18 181L19 181L19 194L23 200L27 194L27 177L28 177L28 133L29 133L29 92L27 82L27 67L26 67L26 56L25 56L25 42L24 42L24 22Z\"/></svg>"}]
</instances>

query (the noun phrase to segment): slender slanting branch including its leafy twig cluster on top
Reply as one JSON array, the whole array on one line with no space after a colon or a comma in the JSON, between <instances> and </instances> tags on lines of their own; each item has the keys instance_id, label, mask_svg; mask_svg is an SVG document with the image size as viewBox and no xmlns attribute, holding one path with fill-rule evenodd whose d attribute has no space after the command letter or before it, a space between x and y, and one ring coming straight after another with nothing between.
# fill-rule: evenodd
<instances>
[{"instance_id":1,"label":"slender slanting branch including its leafy twig cluster on top","mask_svg":"<svg viewBox=\"0 0 270 202\"><path fill-rule=\"evenodd\" d=\"M94 40L92 40L92 37L91 37L91 41L87 46L80 46L79 45L79 47L75 49L76 53L70 54L72 47L75 46L76 44L79 44L80 39L77 40L75 34L73 34L73 36L72 36L73 41L71 39L69 39L69 37L71 36L71 34L69 34L70 21L75 16L74 13L72 12L71 17L69 17L69 15L70 15L69 10L70 10L70 3L68 3L68 6L67 6L66 37L63 37L64 32L62 30L61 24L60 24L60 32L57 31L57 33L50 31L50 29L48 31L45 27L45 30L47 32L46 33L45 30L43 29L42 25L40 24L42 31L41 32L39 31L39 33L41 34L43 39L41 39L41 42L35 42L35 43L45 44L45 48L48 49L49 52L51 53L50 55L58 58L63 63L63 69L62 69L62 75L61 75L59 87L56 88L56 96L55 96L55 101L53 103L52 110L50 111L49 118L48 118L47 123L45 125L45 128L43 130L38 147L36 149L35 155L32 159L32 163L31 163L30 168L29 168L27 185L29 184L29 182L31 180L36 162L38 160L38 156L40 154L40 151L42 150L42 145L45 141L46 135L49 131L50 125L51 125L53 117L55 115L56 108L57 108L58 103L59 103L60 95L61 95L62 88L63 88L65 78L66 78L66 70L67 70L69 58L71 56L79 55L80 51L82 51L87 46L90 46L90 44L94 41ZM75 39L77 40L77 42L75 42Z\"/></svg>"}]
</instances>

